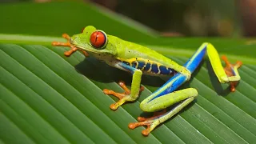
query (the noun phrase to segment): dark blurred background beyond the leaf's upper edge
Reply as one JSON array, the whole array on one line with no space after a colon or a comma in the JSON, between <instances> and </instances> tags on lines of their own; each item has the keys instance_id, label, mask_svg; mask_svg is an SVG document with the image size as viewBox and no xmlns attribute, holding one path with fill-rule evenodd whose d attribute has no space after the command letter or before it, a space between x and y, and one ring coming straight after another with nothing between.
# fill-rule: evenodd
<instances>
[{"instance_id":1,"label":"dark blurred background beyond the leaf's upper edge","mask_svg":"<svg viewBox=\"0 0 256 144\"><path fill-rule=\"evenodd\" d=\"M52 2L54 0L0 0ZM254 37L256 0L77 0L103 6L163 36Z\"/></svg>"}]
</instances>

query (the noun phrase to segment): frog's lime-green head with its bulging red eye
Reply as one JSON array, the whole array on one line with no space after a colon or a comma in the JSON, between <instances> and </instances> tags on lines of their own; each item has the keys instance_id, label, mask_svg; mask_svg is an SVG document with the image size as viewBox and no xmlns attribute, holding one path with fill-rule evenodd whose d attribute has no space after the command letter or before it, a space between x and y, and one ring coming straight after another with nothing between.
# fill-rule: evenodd
<instances>
[{"instance_id":1,"label":"frog's lime-green head with its bulging red eye","mask_svg":"<svg viewBox=\"0 0 256 144\"><path fill-rule=\"evenodd\" d=\"M79 49L94 54L117 54L116 47L109 44L109 41L108 35L102 30L96 30L94 26L86 26L81 34L75 34L70 38L70 44Z\"/></svg>"}]
</instances>

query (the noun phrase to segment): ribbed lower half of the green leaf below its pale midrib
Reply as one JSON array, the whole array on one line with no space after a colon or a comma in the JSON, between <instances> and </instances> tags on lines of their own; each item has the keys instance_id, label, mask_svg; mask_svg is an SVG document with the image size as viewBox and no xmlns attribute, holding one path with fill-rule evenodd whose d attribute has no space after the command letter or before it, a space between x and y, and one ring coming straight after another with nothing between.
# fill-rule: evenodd
<instances>
[{"instance_id":1,"label":"ribbed lower half of the green leaf below its pale midrib","mask_svg":"<svg viewBox=\"0 0 256 144\"><path fill-rule=\"evenodd\" d=\"M64 47L2 44L0 48L3 142L246 143L256 138L254 65L239 69L242 80L234 93L222 90L227 86L218 84L210 66L202 65L189 85L182 86L196 88L197 100L144 138L142 127L129 130L127 125L142 114L139 102L161 86L162 79L143 77L146 90L138 101L112 111L109 106L117 99L102 89L122 91L116 82L130 83L130 74L85 59L81 53L66 58ZM181 64L187 60L166 56Z\"/></svg>"}]
</instances>

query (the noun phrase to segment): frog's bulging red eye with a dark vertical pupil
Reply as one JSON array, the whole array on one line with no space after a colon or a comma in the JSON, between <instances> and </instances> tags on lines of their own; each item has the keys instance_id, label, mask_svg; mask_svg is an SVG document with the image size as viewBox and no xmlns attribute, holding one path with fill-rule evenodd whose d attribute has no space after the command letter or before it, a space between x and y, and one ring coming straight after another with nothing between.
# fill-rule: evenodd
<instances>
[{"instance_id":1,"label":"frog's bulging red eye with a dark vertical pupil","mask_svg":"<svg viewBox=\"0 0 256 144\"><path fill-rule=\"evenodd\" d=\"M97 49L106 45L106 34L101 30L96 30L90 35L90 44Z\"/></svg>"}]
</instances>

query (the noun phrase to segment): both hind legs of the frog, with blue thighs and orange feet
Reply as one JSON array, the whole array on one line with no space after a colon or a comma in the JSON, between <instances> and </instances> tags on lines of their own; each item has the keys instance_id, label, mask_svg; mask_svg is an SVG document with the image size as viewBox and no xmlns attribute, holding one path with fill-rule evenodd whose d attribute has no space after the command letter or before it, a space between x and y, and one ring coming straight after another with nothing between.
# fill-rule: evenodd
<instances>
[{"instance_id":1,"label":"both hind legs of the frog, with blue thighs and orange feet","mask_svg":"<svg viewBox=\"0 0 256 144\"><path fill-rule=\"evenodd\" d=\"M226 61L227 69L230 69L230 74L226 75L228 70L224 70L220 58L218 57L217 50L210 43L203 43L202 46L194 53L194 55L184 65L186 70L192 74L198 67L204 55L208 54L211 65L213 66L214 73L219 78L220 82L236 82L239 80L238 67L241 66L241 62L237 62L234 66L230 65ZM225 58L224 58L225 59ZM230 68L229 68L230 66ZM225 72L226 71L226 72ZM130 129L134 129L137 126L147 126L146 130L142 130L142 134L148 135L150 131L154 130L160 123L165 122L167 119L177 114L182 108L187 106L198 95L198 91L194 88L188 88L185 90L174 91L181 86L184 82L190 79L190 74L175 74L173 78L170 78L163 86L154 91L148 98L143 100L140 107L143 111L154 112L162 109L166 109L168 106L172 106L176 102L180 102L178 106L175 106L172 110L166 114L159 115L153 118L138 118L139 122L130 123Z\"/></svg>"}]
</instances>

